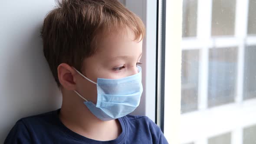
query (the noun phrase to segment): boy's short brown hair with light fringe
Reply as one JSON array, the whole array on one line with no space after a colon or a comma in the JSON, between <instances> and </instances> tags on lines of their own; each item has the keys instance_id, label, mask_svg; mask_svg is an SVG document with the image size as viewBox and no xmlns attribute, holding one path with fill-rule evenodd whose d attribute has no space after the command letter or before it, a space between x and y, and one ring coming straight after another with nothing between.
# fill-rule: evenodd
<instances>
[{"instance_id":1,"label":"boy's short brown hair with light fringe","mask_svg":"<svg viewBox=\"0 0 256 144\"><path fill-rule=\"evenodd\" d=\"M43 23L43 52L60 86L57 68L67 63L82 70L82 62L96 51L97 35L130 28L135 39L143 39L145 28L141 19L118 0L58 0Z\"/></svg>"}]
</instances>

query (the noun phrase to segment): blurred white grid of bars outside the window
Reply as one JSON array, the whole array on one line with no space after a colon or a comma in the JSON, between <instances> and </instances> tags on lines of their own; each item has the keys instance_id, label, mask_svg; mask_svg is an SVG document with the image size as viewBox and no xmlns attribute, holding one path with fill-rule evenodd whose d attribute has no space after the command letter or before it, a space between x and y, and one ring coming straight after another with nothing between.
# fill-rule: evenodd
<instances>
[{"instance_id":1,"label":"blurred white grid of bars outside the window","mask_svg":"<svg viewBox=\"0 0 256 144\"><path fill-rule=\"evenodd\" d=\"M200 49L198 110L181 114L181 144L207 144L208 138L231 132L231 144L243 144L243 128L256 124L256 98L243 101L245 46L255 46L247 35L249 0L236 0L234 36L211 36L212 0L197 2L197 36L183 38L182 50ZM238 48L235 102L208 108L210 48Z\"/></svg>"}]
</instances>

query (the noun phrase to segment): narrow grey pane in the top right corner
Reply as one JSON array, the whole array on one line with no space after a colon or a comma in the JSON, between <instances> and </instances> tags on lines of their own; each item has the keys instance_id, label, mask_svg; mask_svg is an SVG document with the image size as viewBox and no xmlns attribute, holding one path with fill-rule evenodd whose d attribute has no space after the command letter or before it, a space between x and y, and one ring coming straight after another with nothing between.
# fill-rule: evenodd
<instances>
[{"instance_id":1,"label":"narrow grey pane in the top right corner","mask_svg":"<svg viewBox=\"0 0 256 144\"><path fill-rule=\"evenodd\" d=\"M256 0L249 0L248 34L256 34Z\"/></svg>"}]
</instances>

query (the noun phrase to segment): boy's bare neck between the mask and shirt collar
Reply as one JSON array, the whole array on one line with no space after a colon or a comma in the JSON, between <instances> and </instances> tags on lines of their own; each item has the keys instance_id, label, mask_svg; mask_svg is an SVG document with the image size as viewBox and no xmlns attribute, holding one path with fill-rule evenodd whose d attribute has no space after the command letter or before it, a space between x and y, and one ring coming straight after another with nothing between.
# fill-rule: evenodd
<instances>
[{"instance_id":1,"label":"boy's bare neck between the mask and shirt collar","mask_svg":"<svg viewBox=\"0 0 256 144\"><path fill-rule=\"evenodd\" d=\"M122 131L117 119L101 121L83 103L72 105L72 102L64 99L59 118L71 131L97 141L114 140Z\"/></svg>"}]
</instances>

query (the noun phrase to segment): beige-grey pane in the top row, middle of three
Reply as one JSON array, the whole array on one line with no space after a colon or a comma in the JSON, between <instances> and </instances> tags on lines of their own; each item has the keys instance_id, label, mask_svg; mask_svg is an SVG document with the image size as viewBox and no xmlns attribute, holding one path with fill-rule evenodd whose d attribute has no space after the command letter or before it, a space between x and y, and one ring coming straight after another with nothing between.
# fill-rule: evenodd
<instances>
[{"instance_id":1,"label":"beige-grey pane in the top row, middle of three","mask_svg":"<svg viewBox=\"0 0 256 144\"><path fill-rule=\"evenodd\" d=\"M234 35L236 0L213 0L212 36Z\"/></svg>"}]
</instances>

